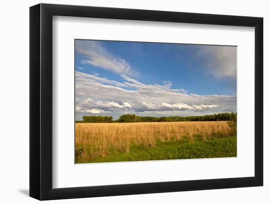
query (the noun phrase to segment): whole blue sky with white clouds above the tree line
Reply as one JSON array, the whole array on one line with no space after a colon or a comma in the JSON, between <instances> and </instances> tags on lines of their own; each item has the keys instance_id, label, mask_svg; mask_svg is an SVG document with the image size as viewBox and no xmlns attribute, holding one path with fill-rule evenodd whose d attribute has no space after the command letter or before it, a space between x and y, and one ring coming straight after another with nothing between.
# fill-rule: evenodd
<instances>
[{"instance_id":1,"label":"whole blue sky with white clouds above the tree line","mask_svg":"<svg viewBox=\"0 0 270 204\"><path fill-rule=\"evenodd\" d=\"M236 111L235 46L76 40L76 119Z\"/></svg>"}]
</instances>

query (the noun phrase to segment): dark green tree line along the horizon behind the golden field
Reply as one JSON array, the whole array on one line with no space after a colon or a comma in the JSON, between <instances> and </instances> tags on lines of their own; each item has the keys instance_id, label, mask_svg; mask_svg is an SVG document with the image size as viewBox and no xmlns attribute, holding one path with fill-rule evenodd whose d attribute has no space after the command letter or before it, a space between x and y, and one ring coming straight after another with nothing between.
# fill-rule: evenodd
<instances>
[{"instance_id":1,"label":"dark green tree line along the horizon behind the golden field","mask_svg":"<svg viewBox=\"0 0 270 204\"><path fill-rule=\"evenodd\" d=\"M139 116L135 114L123 114L117 120L112 120L112 116L86 116L82 117L85 123L126 123L126 122L184 122L184 121L232 121L236 119L236 113L218 113L212 115L200 116L168 116L168 117L152 117L152 116Z\"/></svg>"}]
</instances>

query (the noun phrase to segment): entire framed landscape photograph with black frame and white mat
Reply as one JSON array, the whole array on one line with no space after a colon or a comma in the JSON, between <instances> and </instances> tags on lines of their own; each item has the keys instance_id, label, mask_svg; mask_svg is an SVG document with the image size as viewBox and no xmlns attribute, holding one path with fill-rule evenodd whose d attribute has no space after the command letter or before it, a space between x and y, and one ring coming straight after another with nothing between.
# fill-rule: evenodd
<instances>
[{"instance_id":1,"label":"entire framed landscape photograph with black frame and white mat","mask_svg":"<svg viewBox=\"0 0 270 204\"><path fill-rule=\"evenodd\" d=\"M263 18L30 7L30 196L263 185Z\"/></svg>"}]
</instances>

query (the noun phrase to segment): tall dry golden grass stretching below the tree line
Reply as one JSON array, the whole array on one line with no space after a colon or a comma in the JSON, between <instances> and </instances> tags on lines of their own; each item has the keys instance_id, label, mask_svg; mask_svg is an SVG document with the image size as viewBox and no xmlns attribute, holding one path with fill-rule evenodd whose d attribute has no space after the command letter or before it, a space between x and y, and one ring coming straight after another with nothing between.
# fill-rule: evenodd
<instances>
[{"instance_id":1,"label":"tall dry golden grass stretching below the tree line","mask_svg":"<svg viewBox=\"0 0 270 204\"><path fill-rule=\"evenodd\" d=\"M106 157L109 152L130 152L131 144L153 148L157 141L195 141L213 136L229 136L231 129L226 121L211 122L137 122L137 123L76 123L76 154L79 159L92 160ZM85 145L88 148L85 148ZM77 147L84 147L77 149ZM90 147L90 148L89 148Z\"/></svg>"}]
</instances>

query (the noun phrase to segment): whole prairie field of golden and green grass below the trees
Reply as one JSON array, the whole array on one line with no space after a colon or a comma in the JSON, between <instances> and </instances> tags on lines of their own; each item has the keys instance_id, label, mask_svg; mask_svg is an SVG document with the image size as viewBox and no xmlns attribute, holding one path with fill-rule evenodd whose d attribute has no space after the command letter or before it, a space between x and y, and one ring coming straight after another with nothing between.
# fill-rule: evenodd
<instances>
[{"instance_id":1,"label":"whole prairie field of golden and green grass below the trees","mask_svg":"<svg viewBox=\"0 0 270 204\"><path fill-rule=\"evenodd\" d=\"M76 163L236 157L227 121L76 123Z\"/></svg>"}]
</instances>

